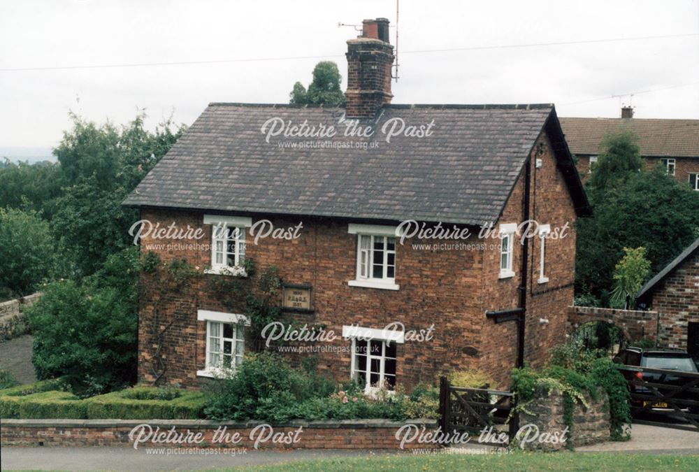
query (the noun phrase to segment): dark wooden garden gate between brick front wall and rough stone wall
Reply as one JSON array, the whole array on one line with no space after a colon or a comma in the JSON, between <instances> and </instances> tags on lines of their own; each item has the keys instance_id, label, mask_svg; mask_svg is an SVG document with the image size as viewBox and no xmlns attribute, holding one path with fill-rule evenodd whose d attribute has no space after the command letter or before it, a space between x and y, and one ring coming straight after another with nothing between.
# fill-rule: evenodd
<instances>
[{"instance_id":1,"label":"dark wooden garden gate between brick front wall and rough stone wall","mask_svg":"<svg viewBox=\"0 0 699 472\"><path fill-rule=\"evenodd\" d=\"M517 414L510 417L513 408L512 392L454 387L447 378L440 378L440 427L444 433L468 431L477 438L486 430L491 431L489 438L507 439L482 443L507 445L517 431Z\"/></svg>"}]
</instances>

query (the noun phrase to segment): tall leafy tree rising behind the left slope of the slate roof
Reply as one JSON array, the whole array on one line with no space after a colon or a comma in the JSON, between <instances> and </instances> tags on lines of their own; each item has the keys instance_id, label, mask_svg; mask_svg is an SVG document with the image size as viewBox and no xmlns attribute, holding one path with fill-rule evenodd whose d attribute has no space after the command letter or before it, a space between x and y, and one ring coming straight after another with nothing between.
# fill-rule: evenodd
<instances>
[{"instance_id":1,"label":"tall leafy tree rising behind the left slope of the slate roof","mask_svg":"<svg viewBox=\"0 0 699 472\"><path fill-rule=\"evenodd\" d=\"M172 120L154 132L143 113L124 127L98 125L71 114L73 129L54 150L64 188L57 199L52 232L69 250L75 275L93 273L106 258L129 245L136 210L124 198L184 132Z\"/></svg>"}]
</instances>

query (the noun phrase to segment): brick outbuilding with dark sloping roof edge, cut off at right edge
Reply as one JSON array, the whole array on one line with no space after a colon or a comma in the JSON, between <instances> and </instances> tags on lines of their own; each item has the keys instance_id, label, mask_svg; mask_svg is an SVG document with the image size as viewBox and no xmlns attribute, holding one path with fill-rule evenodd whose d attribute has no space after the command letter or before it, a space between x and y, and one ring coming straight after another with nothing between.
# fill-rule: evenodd
<instances>
[{"instance_id":1,"label":"brick outbuilding with dark sloping roof edge, cut off at right edge","mask_svg":"<svg viewBox=\"0 0 699 472\"><path fill-rule=\"evenodd\" d=\"M658 312L658 346L699 359L699 239L651 278L638 300Z\"/></svg>"}]
</instances>

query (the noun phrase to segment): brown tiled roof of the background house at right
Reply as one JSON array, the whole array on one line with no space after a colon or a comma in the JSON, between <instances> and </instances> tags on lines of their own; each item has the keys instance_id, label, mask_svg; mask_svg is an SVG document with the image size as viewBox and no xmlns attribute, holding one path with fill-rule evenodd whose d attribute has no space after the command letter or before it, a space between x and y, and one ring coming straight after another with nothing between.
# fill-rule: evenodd
<instances>
[{"instance_id":1,"label":"brown tiled roof of the background house at right","mask_svg":"<svg viewBox=\"0 0 699 472\"><path fill-rule=\"evenodd\" d=\"M637 118L565 118L561 127L570 152L596 155L607 133L633 131L644 157L699 159L699 120L644 120Z\"/></svg>"}]
</instances>

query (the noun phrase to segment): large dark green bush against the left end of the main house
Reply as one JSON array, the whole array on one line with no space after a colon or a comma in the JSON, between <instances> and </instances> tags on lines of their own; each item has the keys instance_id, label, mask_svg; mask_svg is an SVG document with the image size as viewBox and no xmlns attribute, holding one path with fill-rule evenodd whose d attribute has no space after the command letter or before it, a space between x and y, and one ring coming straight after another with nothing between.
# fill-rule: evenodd
<instances>
[{"instance_id":1,"label":"large dark green bush against the left end of the main house","mask_svg":"<svg viewBox=\"0 0 699 472\"><path fill-rule=\"evenodd\" d=\"M136 381L138 250L111 255L82 282L59 280L27 310L40 379L62 377L79 396Z\"/></svg>"}]
</instances>

